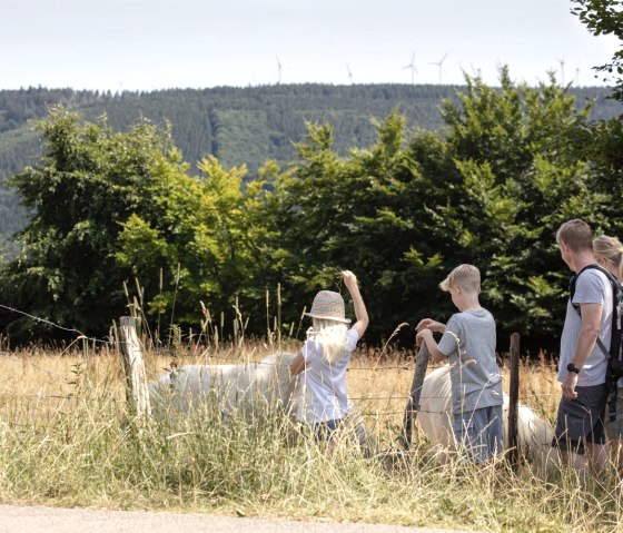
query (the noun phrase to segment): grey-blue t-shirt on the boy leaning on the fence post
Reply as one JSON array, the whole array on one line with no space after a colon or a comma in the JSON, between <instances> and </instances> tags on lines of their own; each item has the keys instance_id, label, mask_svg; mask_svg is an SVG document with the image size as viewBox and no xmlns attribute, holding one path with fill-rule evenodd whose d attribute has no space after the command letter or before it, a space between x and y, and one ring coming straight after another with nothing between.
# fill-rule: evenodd
<instances>
[{"instance_id":1,"label":"grey-blue t-shirt on the boy leaning on the fence post","mask_svg":"<svg viewBox=\"0 0 623 533\"><path fill-rule=\"evenodd\" d=\"M495 320L484 309L452 315L438 349L449 358L453 413L503 404Z\"/></svg>"}]
</instances>

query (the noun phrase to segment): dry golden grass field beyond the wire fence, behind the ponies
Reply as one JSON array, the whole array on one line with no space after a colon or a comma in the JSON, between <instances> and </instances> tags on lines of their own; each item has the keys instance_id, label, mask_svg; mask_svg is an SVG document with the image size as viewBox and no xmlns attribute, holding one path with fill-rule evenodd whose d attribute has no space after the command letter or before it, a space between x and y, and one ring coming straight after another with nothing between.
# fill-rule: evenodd
<instances>
[{"instance_id":1,"label":"dry golden grass field beyond the wire fence, behind the ponies","mask_svg":"<svg viewBox=\"0 0 623 533\"><path fill-rule=\"evenodd\" d=\"M175 355L166 349L147 352L145 356L148 379L154 379L171 364L231 364L259 361L275 352L296 352L299 344L284 342L279 346L261 342L231 345L185 346ZM413 353L399 351L362 349L348 371L349 395L379 434L396 433L402 424L415 368ZM507 389L507 365L503 367ZM122 402L125 397L120 358L108 346L95 349L76 344L65 351L39 347L4 352L0 356L0 414L16 423L34 422L48 409L67 408L78 386L90 383L92 388ZM538 414L553 420L560 386L552 362L522 362L520 381L521 402ZM19 405L19 408L18 408ZM60 407L59 407L60 406ZM30 407L30 408L24 408ZM19 420L14 417L18 416Z\"/></svg>"}]
</instances>

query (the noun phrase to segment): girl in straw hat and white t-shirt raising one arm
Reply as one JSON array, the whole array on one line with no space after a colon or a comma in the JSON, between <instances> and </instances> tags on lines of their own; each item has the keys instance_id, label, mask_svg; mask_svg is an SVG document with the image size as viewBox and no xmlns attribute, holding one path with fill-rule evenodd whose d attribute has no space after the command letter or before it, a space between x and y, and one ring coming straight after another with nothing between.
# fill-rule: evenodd
<instances>
[{"instance_id":1,"label":"girl in straw hat and white t-shirt raising one arm","mask_svg":"<svg viewBox=\"0 0 623 533\"><path fill-rule=\"evenodd\" d=\"M293 375L303 379L303 401L296 416L300 422L312 423L318 440L329 438L348 413L346 369L357 342L368 327L368 314L359 293L357 278L350 270L342 274L353 298L357 322L348 328L344 298L339 293L320 290L314 298L314 319L307 332L307 340L290 365Z\"/></svg>"}]
</instances>

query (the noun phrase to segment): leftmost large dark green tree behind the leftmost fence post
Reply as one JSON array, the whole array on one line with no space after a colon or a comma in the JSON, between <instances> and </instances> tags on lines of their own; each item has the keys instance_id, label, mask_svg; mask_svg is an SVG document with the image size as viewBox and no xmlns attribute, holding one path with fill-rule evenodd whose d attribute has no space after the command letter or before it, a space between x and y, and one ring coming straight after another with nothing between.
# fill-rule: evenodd
<instances>
[{"instance_id":1,"label":"leftmost large dark green tree behind the leftmost fence post","mask_svg":"<svg viewBox=\"0 0 623 533\"><path fill-rule=\"evenodd\" d=\"M63 327L101 335L123 312L122 279L115 258L119 221L149 203L144 195L160 158L184 166L167 131L138 122L115 134L106 118L83 124L52 108L37 129L44 144L39 162L11 181L32 209L18 238L19 257L3 267L4 302ZM7 317L16 336L40 324Z\"/></svg>"}]
</instances>

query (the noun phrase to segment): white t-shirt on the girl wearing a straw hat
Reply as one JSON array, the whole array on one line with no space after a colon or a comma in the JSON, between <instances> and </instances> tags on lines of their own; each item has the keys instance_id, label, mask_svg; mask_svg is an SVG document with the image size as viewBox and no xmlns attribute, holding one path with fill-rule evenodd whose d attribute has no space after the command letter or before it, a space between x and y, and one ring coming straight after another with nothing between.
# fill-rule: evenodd
<instances>
[{"instance_id":1,"label":"white t-shirt on the girl wearing a straw hat","mask_svg":"<svg viewBox=\"0 0 623 533\"><path fill-rule=\"evenodd\" d=\"M327 422L344 418L348 412L346 392L346 369L350 355L357 346L359 334L356 329L346 333L345 355L329 365L323 357L323 346L314 339L305 342L301 348L305 358L303 401L298 405L297 418L301 422Z\"/></svg>"}]
</instances>

